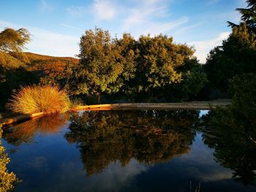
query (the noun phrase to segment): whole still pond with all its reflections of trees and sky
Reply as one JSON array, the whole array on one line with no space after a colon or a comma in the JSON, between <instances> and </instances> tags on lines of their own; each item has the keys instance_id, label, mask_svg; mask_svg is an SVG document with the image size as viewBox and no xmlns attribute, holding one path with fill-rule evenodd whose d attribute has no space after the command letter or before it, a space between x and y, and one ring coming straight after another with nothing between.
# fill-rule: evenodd
<instances>
[{"instance_id":1,"label":"whole still pond with all its reflections of trees and sky","mask_svg":"<svg viewBox=\"0 0 256 192\"><path fill-rule=\"evenodd\" d=\"M7 128L15 191L256 191L256 145L204 125L207 113L84 111Z\"/></svg>"}]
</instances>

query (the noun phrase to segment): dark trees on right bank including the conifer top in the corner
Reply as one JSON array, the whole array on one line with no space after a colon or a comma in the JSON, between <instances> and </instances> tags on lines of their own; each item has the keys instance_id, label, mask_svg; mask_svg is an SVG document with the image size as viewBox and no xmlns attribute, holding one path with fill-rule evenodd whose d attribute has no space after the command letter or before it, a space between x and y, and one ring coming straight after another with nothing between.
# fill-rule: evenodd
<instances>
[{"instance_id":1,"label":"dark trees on right bank including the conifer top in the corner","mask_svg":"<svg viewBox=\"0 0 256 192\"><path fill-rule=\"evenodd\" d=\"M226 93L233 77L256 73L256 1L246 2L246 9L236 9L241 13L241 22L228 22L232 33L222 45L211 50L204 66L211 85Z\"/></svg>"}]
</instances>

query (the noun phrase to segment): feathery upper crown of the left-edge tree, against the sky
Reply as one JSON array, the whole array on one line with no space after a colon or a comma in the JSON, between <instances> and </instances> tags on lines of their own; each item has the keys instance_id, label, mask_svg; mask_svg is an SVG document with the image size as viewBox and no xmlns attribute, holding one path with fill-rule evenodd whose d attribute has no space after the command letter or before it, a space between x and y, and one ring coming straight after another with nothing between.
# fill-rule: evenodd
<instances>
[{"instance_id":1,"label":"feathery upper crown of the left-edge tree, against the sky","mask_svg":"<svg viewBox=\"0 0 256 192\"><path fill-rule=\"evenodd\" d=\"M0 33L0 51L5 53L21 52L24 45L30 40L30 34L26 28L20 28L17 31L13 28L5 28Z\"/></svg>"}]
</instances>

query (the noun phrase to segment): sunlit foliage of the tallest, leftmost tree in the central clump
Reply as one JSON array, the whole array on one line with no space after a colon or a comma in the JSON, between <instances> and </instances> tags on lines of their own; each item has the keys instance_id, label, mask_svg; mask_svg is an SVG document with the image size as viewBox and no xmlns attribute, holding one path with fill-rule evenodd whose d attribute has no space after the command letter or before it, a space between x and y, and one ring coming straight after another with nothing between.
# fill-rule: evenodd
<instances>
[{"instance_id":1,"label":"sunlit foliage of the tallest, leftmost tree in the central clump","mask_svg":"<svg viewBox=\"0 0 256 192\"><path fill-rule=\"evenodd\" d=\"M77 75L81 93L111 93L118 91L118 76L124 70L120 47L114 43L108 31L95 28L86 31L80 39L80 66ZM114 86L111 86L114 84Z\"/></svg>"}]
</instances>

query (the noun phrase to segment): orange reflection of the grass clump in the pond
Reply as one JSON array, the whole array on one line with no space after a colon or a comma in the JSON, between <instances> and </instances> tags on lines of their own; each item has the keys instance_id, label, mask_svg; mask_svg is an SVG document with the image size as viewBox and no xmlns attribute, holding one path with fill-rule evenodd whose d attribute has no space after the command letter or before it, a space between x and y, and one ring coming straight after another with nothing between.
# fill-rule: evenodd
<instances>
[{"instance_id":1,"label":"orange reflection of the grass clump in the pond","mask_svg":"<svg viewBox=\"0 0 256 192\"><path fill-rule=\"evenodd\" d=\"M36 120L29 120L16 126L6 128L3 138L12 145L32 142L36 134L54 134L68 120L68 115L50 115Z\"/></svg>"}]
</instances>

